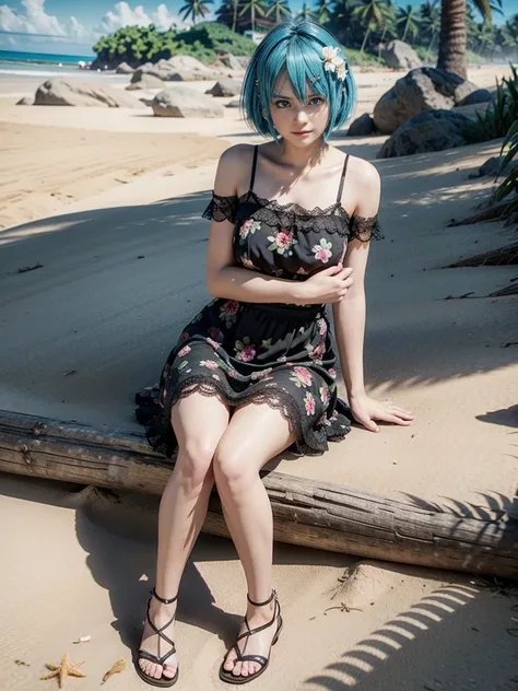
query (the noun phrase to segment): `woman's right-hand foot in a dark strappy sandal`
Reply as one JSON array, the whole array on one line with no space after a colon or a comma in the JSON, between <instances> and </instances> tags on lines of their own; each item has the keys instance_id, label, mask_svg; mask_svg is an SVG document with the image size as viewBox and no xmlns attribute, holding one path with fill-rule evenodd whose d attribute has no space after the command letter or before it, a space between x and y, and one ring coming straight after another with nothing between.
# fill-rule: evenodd
<instances>
[{"instance_id":1,"label":"woman's right-hand foot in a dark strappy sandal","mask_svg":"<svg viewBox=\"0 0 518 691\"><path fill-rule=\"evenodd\" d=\"M279 628L279 616L272 621L274 613L280 614L280 606L276 601L276 595L274 595L268 605L255 606L248 601L246 619L250 629L264 626L269 622L270 625L266 626L258 633L252 633L249 636L243 636L237 642L237 647L242 655L262 655L267 659L270 657L270 648L272 646L273 637ZM238 636L242 633L248 632L245 621L242 623ZM246 645L245 645L246 644ZM223 669L232 672L235 677L249 677L255 672L262 669L263 665L260 663L245 660L243 663L235 661L237 653L234 646L228 651L225 661L223 663Z\"/></svg>"}]
</instances>

